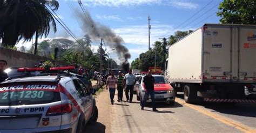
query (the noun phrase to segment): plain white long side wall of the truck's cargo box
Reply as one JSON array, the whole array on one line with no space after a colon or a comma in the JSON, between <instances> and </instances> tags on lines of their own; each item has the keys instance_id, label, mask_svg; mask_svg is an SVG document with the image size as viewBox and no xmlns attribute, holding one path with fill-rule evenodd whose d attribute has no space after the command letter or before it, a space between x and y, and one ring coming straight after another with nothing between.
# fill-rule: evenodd
<instances>
[{"instance_id":1,"label":"plain white long side wall of the truck's cargo box","mask_svg":"<svg viewBox=\"0 0 256 133\"><path fill-rule=\"evenodd\" d=\"M197 29L169 47L168 79L172 82L201 83L202 30Z\"/></svg>"}]
</instances>

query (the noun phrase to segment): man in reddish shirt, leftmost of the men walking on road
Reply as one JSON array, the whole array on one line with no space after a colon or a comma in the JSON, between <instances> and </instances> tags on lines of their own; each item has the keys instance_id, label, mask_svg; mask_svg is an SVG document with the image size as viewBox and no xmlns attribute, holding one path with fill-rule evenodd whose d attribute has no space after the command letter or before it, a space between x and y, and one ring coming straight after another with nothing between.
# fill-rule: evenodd
<instances>
[{"instance_id":1,"label":"man in reddish shirt, leftmost of the men walking on road","mask_svg":"<svg viewBox=\"0 0 256 133\"><path fill-rule=\"evenodd\" d=\"M114 73L111 73L111 76L107 77L106 81L106 90L109 87L110 100L111 104L114 104L114 92L116 92L117 78L114 77Z\"/></svg>"}]
</instances>

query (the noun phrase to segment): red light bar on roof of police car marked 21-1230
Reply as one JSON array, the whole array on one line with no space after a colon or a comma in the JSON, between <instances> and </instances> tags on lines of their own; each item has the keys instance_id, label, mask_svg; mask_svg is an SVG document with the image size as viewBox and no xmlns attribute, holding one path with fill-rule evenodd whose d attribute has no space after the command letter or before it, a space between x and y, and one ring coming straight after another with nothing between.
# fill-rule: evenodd
<instances>
[{"instance_id":1,"label":"red light bar on roof of police car marked 21-1230","mask_svg":"<svg viewBox=\"0 0 256 133\"><path fill-rule=\"evenodd\" d=\"M50 68L50 71L63 71L63 70L74 70L75 67L59 67L59 68ZM45 68L19 68L18 72L32 72L32 71L46 71Z\"/></svg>"}]
</instances>

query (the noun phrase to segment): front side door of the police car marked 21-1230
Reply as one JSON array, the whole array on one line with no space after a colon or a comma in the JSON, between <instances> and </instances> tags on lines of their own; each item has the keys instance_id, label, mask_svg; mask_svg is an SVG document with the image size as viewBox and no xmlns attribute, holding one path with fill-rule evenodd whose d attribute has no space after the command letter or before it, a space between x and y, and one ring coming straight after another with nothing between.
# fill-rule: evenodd
<instances>
[{"instance_id":1,"label":"front side door of the police car marked 21-1230","mask_svg":"<svg viewBox=\"0 0 256 133\"><path fill-rule=\"evenodd\" d=\"M82 89L85 91L85 113L86 113L86 121L88 121L92 114L93 109L93 100L92 100L92 94L87 89L87 87L84 85L84 83L81 80L78 80L78 83L82 87Z\"/></svg>"}]
</instances>

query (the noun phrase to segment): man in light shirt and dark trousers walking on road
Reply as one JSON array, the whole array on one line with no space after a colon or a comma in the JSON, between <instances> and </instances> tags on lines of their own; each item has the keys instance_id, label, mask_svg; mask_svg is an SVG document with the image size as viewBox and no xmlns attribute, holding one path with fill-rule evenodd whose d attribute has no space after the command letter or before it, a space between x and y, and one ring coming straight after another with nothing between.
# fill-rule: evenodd
<instances>
[{"instance_id":1,"label":"man in light shirt and dark trousers walking on road","mask_svg":"<svg viewBox=\"0 0 256 133\"><path fill-rule=\"evenodd\" d=\"M130 91L130 102L132 102L132 96L133 96L133 87L135 85L135 75L132 73L132 69L129 70L129 73L127 73L124 76L123 85L125 84L125 96L126 101L129 101L129 91Z\"/></svg>"}]
</instances>

